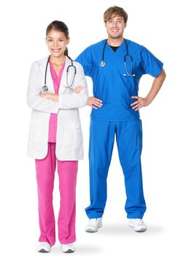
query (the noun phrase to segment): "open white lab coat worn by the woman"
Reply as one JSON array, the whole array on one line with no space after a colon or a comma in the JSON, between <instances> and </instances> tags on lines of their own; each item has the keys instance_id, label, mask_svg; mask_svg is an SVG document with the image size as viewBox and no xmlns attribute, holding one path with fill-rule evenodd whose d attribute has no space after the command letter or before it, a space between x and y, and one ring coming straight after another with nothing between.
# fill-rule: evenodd
<instances>
[{"instance_id":1,"label":"open white lab coat worn by the woman","mask_svg":"<svg viewBox=\"0 0 170 256\"><path fill-rule=\"evenodd\" d=\"M58 91L58 102L44 99L39 96L45 83L45 67L47 57L35 61L31 66L28 81L28 106L32 109L31 124L28 138L28 157L44 159L47 155L47 142L50 113L58 114L55 155L59 160L83 159L82 129L80 124L79 109L84 107L88 99L88 86L81 64L74 61L77 73L72 89L82 86L80 94L72 93L66 88L66 69L71 61L66 57L61 84ZM69 81L72 82L74 69L69 69ZM71 84L69 83L69 85ZM47 67L48 93L55 93L50 65Z\"/></svg>"}]
</instances>

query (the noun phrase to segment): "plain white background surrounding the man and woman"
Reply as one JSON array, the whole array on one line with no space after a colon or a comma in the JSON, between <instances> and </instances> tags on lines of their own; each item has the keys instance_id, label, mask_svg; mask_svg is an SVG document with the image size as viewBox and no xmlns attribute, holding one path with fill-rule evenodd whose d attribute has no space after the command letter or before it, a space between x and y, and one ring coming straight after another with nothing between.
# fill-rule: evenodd
<instances>
[{"instance_id":1,"label":"plain white background surrounding the man and woman","mask_svg":"<svg viewBox=\"0 0 170 256\"><path fill-rule=\"evenodd\" d=\"M73 59L88 45L107 38L104 11L117 4L128 12L125 38L146 46L164 63L167 78L152 105L141 110L144 139L142 167L147 212L146 233L128 227L123 173L115 145L108 176L104 227L85 233L84 208L89 204L88 136L90 108L80 110L85 160L77 178L77 252L75 255L169 255L169 7L168 1L5 1L1 26L1 255L39 255L39 225L34 159L26 156L31 110L26 105L31 63L47 56L45 29L53 20L69 26L69 55ZM152 78L145 75L139 95L144 97ZM88 78L90 95L92 83ZM55 176L55 216L58 216L58 176ZM56 228L57 235L57 228ZM58 238L51 255L61 255Z\"/></svg>"}]
</instances>

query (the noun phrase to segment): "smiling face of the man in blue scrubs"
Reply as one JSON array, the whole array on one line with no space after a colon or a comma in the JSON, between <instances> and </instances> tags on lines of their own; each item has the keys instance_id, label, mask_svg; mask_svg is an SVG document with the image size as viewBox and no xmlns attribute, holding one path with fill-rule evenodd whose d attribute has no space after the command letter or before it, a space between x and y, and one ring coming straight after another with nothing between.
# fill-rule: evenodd
<instances>
[{"instance_id":1,"label":"smiling face of the man in blue scrubs","mask_svg":"<svg viewBox=\"0 0 170 256\"><path fill-rule=\"evenodd\" d=\"M119 39L123 37L123 31L126 26L123 17L113 14L110 20L107 20L105 26L108 36L112 39Z\"/></svg>"}]
</instances>

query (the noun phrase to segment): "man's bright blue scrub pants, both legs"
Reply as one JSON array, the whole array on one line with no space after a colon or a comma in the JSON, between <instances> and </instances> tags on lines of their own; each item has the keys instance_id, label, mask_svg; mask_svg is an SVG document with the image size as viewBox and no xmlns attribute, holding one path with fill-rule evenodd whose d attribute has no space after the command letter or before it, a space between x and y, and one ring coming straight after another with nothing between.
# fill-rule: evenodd
<instances>
[{"instance_id":1,"label":"man's bright blue scrub pants, both legs","mask_svg":"<svg viewBox=\"0 0 170 256\"><path fill-rule=\"evenodd\" d=\"M104 214L107 201L107 174L114 140L125 178L129 219L142 219L146 211L142 187L142 121L90 121L90 206L85 208L89 219Z\"/></svg>"}]
</instances>

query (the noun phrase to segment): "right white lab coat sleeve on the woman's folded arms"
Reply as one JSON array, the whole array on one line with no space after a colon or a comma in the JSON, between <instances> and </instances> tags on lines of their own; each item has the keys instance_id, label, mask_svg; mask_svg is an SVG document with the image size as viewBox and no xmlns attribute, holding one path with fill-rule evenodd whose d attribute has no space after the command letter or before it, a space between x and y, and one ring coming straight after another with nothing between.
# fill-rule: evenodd
<instances>
[{"instance_id":1,"label":"right white lab coat sleeve on the woman's folded arms","mask_svg":"<svg viewBox=\"0 0 170 256\"><path fill-rule=\"evenodd\" d=\"M74 80L74 88L82 86L82 91L79 94L59 94L58 108L59 109L71 109L82 108L86 105L88 100L88 86L85 80L85 74L80 64L77 65L77 75Z\"/></svg>"}]
</instances>

